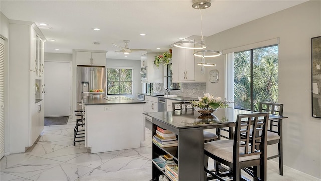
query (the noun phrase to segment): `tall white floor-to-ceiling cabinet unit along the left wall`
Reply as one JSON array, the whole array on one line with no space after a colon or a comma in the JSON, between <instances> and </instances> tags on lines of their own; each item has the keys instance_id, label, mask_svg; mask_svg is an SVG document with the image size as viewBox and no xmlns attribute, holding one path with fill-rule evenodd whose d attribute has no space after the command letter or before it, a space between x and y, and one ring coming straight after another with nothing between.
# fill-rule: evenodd
<instances>
[{"instance_id":1,"label":"tall white floor-to-ceiling cabinet unit along the left wall","mask_svg":"<svg viewBox=\"0 0 321 181\"><path fill-rule=\"evenodd\" d=\"M10 118L10 153L25 152L33 145L44 128L43 112L37 112L36 79L42 80L41 71L37 65L36 38L39 44L39 57L42 60L44 41L46 38L33 22L9 21L9 88L8 117ZM40 66L41 68L41 66ZM37 71L38 69L38 71ZM37 74L38 73L38 74ZM39 74L40 73L40 74ZM43 82L43 81L42 81ZM44 99L44 97L42 97ZM37 107L38 106L38 107ZM42 110L43 110L42 106ZM19 134L17 134L19 132Z\"/></svg>"}]
</instances>

